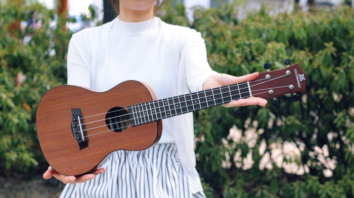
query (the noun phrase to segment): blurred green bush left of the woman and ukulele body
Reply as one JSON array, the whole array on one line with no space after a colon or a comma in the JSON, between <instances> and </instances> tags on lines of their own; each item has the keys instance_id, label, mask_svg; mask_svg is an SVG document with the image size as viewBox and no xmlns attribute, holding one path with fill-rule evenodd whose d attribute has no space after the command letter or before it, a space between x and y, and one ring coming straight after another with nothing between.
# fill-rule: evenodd
<instances>
[{"instance_id":1,"label":"blurred green bush left of the woman and ukulele body","mask_svg":"<svg viewBox=\"0 0 354 198\"><path fill-rule=\"evenodd\" d=\"M21 6L22 5L22 6ZM66 81L65 26L39 4L0 2L0 170L33 172L44 162L35 128L37 103ZM65 23L64 23L65 24Z\"/></svg>"}]
</instances>

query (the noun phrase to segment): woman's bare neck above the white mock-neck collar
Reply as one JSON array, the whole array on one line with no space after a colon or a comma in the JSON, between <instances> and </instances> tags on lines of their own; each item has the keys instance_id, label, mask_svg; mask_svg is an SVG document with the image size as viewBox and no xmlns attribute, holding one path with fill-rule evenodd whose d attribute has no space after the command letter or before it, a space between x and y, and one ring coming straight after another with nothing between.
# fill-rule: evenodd
<instances>
[{"instance_id":1,"label":"woman's bare neck above the white mock-neck collar","mask_svg":"<svg viewBox=\"0 0 354 198\"><path fill-rule=\"evenodd\" d=\"M119 8L119 19L124 22L143 22L148 21L154 17L154 7L146 10L131 10L125 7Z\"/></svg>"}]
</instances>

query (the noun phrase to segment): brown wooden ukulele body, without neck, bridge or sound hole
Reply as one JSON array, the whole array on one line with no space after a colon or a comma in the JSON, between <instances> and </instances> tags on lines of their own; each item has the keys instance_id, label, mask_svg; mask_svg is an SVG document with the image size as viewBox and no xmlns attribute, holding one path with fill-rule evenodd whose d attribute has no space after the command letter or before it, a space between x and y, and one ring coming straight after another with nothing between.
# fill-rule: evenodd
<instances>
[{"instance_id":1,"label":"brown wooden ukulele body, without neck, bridge or sound hole","mask_svg":"<svg viewBox=\"0 0 354 198\"><path fill-rule=\"evenodd\" d=\"M42 97L37 108L41 150L56 171L64 175L81 175L95 170L113 151L147 149L160 139L162 120L127 126L125 130L115 132L107 126L106 114L112 107L126 109L152 100L156 100L152 89L137 81L123 82L106 92L69 85L53 88ZM73 135L72 109L81 110L85 129L93 128L86 131L87 147L81 150Z\"/></svg>"}]
</instances>

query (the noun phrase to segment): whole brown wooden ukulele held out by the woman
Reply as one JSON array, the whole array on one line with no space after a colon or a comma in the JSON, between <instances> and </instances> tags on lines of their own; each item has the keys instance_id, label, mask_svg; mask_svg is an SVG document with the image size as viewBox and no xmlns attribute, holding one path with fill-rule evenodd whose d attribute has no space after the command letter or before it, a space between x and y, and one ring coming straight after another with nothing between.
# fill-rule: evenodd
<instances>
[{"instance_id":1,"label":"whole brown wooden ukulele held out by the woman","mask_svg":"<svg viewBox=\"0 0 354 198\"><path fill-rule=\"evenodd\" d=\"M150 86L138 81L122 82L106 92L62 85L38 103L39 144L56 171L82 175L103 164L113 151L156 144L164 118L250 96L271 99L305 92L305 85L306 74L298 63L261 72L253 81L159 100Z\"/></svg>"}]
</instances>

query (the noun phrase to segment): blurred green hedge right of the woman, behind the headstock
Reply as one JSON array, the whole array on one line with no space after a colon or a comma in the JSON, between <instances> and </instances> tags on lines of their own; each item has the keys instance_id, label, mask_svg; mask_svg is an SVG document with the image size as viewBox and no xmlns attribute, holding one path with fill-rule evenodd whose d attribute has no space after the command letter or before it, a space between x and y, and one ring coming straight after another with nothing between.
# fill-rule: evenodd
<instances>
[{"instance_id":1,"label":"blurred green hedge right of the woman, behind the headstock","mask_svg":"<svg viewBox=\"0 0 354 198\"><path fill-rule=\"evenodd\" d=\"M188 23L180 5L161 18L167 23L188 23L201 32L209 63L219 73L241 76L262 72L265 62L272 63L272 70L281 69L288 57L299 62L307 73L307 92L298 102L292 102L290 96L278 98L278 107L270 103L266 107L213 107L195 112L197 169L206 194L353 197L354 11L343 6L270 16L270 9L263 6L258 13L239 20L237 8L236 4L195 8L195 20ZM230 135L232 127L241 131L240 140L234 141ZM253 144L247 141L250 130L254 131ZM274 145L283 151L289 143L299 154L282 153L283 162L276 163ZM272 169L261 170L266 155L271 156ZM250 168L243 170L250 156ZM290 164L305 173L285 171L283 165ZM333 176L326 177L326 170Z\"/></svg>"}]
</instances>

